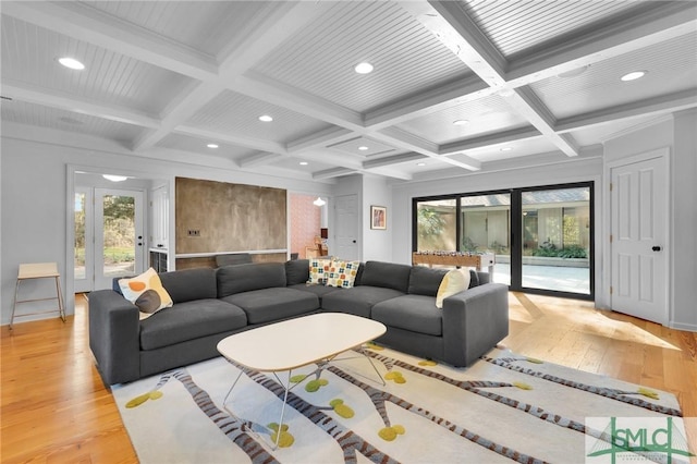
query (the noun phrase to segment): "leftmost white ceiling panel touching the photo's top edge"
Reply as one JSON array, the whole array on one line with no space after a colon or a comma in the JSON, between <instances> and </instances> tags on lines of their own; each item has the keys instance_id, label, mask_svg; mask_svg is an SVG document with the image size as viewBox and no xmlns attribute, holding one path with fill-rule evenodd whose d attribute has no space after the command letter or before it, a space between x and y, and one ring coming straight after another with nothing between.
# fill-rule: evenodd
<instances>
[{"instance_id":1,"label":"leftmost white ceiling panel touching the photo's top edge","mask_svg":"<svg viewBox=\"0 0 697 464\"><path fill-rule=\"evenodd\" d=\"M210 56L264 15L265 1L85 1L90 8Z\"/></svg>"}]
</instances>

